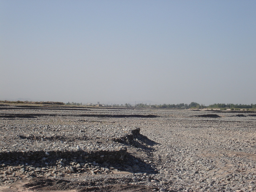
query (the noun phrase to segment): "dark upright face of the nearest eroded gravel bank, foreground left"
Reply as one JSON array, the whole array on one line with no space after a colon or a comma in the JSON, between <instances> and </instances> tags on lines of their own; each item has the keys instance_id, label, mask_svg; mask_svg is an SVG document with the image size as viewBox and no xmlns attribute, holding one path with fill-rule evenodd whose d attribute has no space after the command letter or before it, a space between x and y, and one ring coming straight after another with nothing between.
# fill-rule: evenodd
<instances>
[{"instance_id":1,"label":"dark upright face of the nearest eroded gravel bank, foreground left","mask_svg":"<svg viewBox=\"0 0 256 192\"><path fill-rule=\"evenodd\" d=\"M113 151L84 151L84 150L69 150L69 151L7 151L0 152L0 162L6 165L12 164L33 164L40 166L47 162L49 166L56 166L56 162L60 159L64 159L61 163L62 166L69 165L70 162L74 161L76 157L76 162L123 162L126 156L126 148L121 148L119 150Z\"/></svg>"}]
</instances>

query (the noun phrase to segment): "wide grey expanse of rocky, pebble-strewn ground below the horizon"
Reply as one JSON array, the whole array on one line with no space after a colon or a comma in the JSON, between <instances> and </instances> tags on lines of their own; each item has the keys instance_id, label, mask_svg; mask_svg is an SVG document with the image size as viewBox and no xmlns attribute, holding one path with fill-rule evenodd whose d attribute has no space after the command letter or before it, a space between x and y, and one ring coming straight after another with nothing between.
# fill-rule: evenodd
<instances>
[{"instance_id":1,"label":"wide grey expanse of rocky, pebble-strewn ground below the horizon","mask_svg":"<svg viewBox=\"0 0 256 192\"><path fill-rule=\"evenodd\" d=\"M0 191L256 192L256 113L0 106Z\"/></svg>"}]
</instances>

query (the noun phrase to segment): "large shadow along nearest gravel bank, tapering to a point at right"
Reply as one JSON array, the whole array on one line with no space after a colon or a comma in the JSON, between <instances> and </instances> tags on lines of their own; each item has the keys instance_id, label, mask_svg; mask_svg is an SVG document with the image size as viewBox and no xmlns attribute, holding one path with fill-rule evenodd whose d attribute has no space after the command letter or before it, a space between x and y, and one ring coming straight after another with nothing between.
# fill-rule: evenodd
<instances>
[{"instance_id":1,"label":"large shadow along nearest gravel bank, tapering to a point at right","mask_svg":"<svg viewBox=\"0 0 256 192\"><path fill-rule=\"evenodd\" d=\"M75 159L74 159L75 157ZM73 162L77 162L80 166L72 166ZM74 173L88 174L92 170L88 170L87 166L98 167L98 173L100 167L105 167L106 164L112 169L126 171L131 173L145 172L149 174L156 174L156 168L152 164L148 164L141 160L139 157L129 154L126 148L122 148L118 151L14 151L14 152L0 152L0 164L4 166L24 166L24 171L31 170L31 166L36 168L51 167L54 168L61 164L62 167L66 167L66 174L70 173L68 167L73 167Z\"/></svg>"}]
</instances>

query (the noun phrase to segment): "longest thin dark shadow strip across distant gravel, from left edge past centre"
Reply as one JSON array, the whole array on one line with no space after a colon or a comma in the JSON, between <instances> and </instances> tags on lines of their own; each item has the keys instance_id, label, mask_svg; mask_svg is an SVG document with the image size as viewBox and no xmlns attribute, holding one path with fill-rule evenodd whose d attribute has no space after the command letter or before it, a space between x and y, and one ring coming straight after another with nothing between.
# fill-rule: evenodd
<instances>
[{"instance_id":1,"label":"longest thin dark shadow strip across distant gravel, from left edge past centre","mask_svg":"<svg viewBox=\"0 0 256 192\"><path fill-rule=\"evenodd\" d=\"M60 115L60 114L0 114L0 118L36 118L42 116L76 116L76 117L99 117L99 118L156 118L157 115L124 115L124 114L81 114L81 115Z\"/></svg>"}]
</instances>

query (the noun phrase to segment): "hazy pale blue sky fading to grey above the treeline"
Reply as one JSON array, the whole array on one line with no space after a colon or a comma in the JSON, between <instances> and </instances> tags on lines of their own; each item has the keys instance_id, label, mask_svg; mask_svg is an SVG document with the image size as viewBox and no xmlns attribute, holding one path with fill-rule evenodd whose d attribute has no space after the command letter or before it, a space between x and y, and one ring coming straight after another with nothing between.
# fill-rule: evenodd
<instances>
[{"instance_id":1,"label":"hazy pale blue sky fading to grey above the treeline","mask_svg":"<svg viewBox=\"0 0 256 192\"><path fill-rule=\"evenodd\" d=\"M255 0L1 0L0 100L256 103Z\"/></svg>"}]
</instances>

